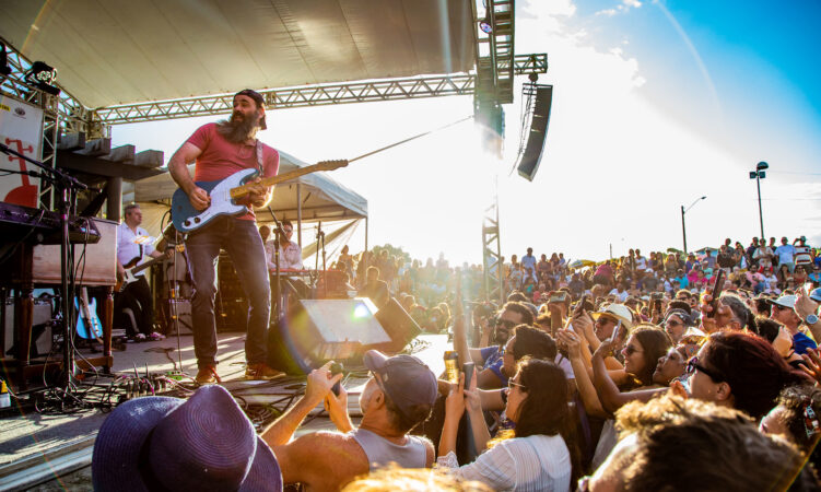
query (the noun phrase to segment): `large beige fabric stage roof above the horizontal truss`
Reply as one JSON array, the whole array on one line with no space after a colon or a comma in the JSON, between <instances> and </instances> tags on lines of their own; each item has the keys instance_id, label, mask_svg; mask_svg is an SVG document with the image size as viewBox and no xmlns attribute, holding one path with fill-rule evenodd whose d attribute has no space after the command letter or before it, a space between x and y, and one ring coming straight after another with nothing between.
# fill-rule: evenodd
<instances>
[{"instance_id":1,"label":"large beige fabric stage roof above the horizontal truss","mask_svg":"<svg viewBox=\"0 0 821 492\"><path fill-rule=\"evenodd\" d=\"M470 1L0 1L0 33L97 108L467 72Z\"/></svg>"}]
</instances>

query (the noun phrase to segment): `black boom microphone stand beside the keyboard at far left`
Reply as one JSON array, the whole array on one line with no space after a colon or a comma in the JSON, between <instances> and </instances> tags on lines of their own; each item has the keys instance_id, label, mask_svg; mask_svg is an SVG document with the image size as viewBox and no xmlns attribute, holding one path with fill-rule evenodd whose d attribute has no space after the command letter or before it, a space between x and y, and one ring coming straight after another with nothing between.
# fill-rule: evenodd
<instances>
[{"instance_id":1,"label":"black boom microphone stand beside the keyboard at far left","mask_svg":"<svg viewBox=\"0 0 821 492\"><path fill-rule=\"evenodd\" d=\"M62 289L62 297L60 298L61 311L63 313L62 319L60 319L60 331L62 332L62 366L63 374L60 378L60 385L69 391L73 384L73 371L74 371L74 352L72 351L73 344L70 342L71 330L69 328L69 320L73 320L73 296L74 296L74 266L69 266L69 254L71 253L71 243L69 242L69 211L71 210L72 200L77 199L77 191L80 189L89 189L87 186L80 183L72 176L63 173L56 167L49 167L39 161L23 155L22 153L10 149L8 145L0 143L0 152L8 155L13 155L17 159L22 159L28 163L34 164L44 171L39 176L42 179L50 180L57 188L59 196L59 202L57 206L57 212L60 215L60 288ZM73 254L71 255L73 258ZM26 347L25 350L28 350Z\"/></svg>"}]
</instances>

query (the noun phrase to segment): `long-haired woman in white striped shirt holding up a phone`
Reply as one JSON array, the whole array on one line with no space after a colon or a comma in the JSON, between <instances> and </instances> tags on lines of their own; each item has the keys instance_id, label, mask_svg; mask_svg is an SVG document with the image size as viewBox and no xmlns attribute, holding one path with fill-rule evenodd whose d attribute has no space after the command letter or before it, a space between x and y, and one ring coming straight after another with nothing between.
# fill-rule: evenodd
<instances>
[{"instance_id":1,"label":"long-haired woman in white striped shirt holding up a phone","mask_svg":"<svg viewBox=\"0 0 821 492\"><path fill-rule=\"evenodd\" d=\"M464 382L462 375L459 387L446 400L438 466L451 468L458 478L486 483L493 490L568 491L579 470L575 440L571 436L573 425L564 372L543 360L519 362L516 375L508 380L505 408L515 429L491 441L474 462L459 467L454 450L466 403L471 425L485 425L476 386L471 384L471 390L465 391ZM476 429L473 433L477 434Z\"/></svg>"}]
</instances>

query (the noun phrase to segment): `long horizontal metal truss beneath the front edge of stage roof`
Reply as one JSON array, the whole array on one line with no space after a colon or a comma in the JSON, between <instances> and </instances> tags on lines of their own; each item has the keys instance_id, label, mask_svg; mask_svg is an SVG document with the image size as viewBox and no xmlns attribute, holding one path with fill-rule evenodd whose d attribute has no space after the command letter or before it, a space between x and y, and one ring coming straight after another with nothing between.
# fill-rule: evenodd
<instances>
[{"instance_id":1,"label":"long horizontal metal truss beneath the front edge of stage roof","mask_svg":"<svg viewBox=\"0 0 821 492\"><path fill-rule=\"evenodd\" d=\"M472 74L448 74L352 82L333 85L271 89L259 91L266 106L272 109L322 106L330 104L368 103L422 97L473 94ZM104 125L120 125L191 116L220 115L232 110L233 94L159 101L95 110Z\"/></svg>"}]
</instances>

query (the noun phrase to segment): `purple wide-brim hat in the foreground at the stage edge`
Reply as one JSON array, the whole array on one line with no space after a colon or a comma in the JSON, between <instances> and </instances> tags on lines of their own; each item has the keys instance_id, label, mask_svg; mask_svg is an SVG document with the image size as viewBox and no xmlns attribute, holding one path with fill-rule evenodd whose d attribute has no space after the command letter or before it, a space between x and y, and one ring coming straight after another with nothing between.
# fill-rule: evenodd
<instances>
[{"instance_id":1,"label":"purple wide-brim hat in the foreground at the stage edge","mask_svg":"<svg viewBox=\"0 0 821 492\"><path fill-rule=\"evenodd\" d=\"M222 386L117 407L94 443L95 491L281 491L271 448Z\"/></svg>"}]
</instances>

